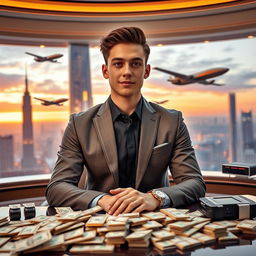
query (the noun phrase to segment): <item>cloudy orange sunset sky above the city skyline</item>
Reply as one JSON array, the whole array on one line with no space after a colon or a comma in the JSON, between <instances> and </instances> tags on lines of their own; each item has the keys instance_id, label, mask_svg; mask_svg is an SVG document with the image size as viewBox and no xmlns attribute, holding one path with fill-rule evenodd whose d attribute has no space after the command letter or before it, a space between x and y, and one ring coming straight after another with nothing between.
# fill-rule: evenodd
<instances>
[{"instance_id":1,"label":"cloudy orange sunset sky above the city skyline","mask_svg":"<svg viewBox=\"0 0 256 256\"><path fill-rule=\"evenodd\" d=\"M168 75L152 70L145 80L143 95L150 101L168 100L167 108L181 110L186 117L228 116L228 93L235 92L237 112L256 113L256 39L240 39L186 45L151 47L149 63L179 73L193 74L213 67L230 71L216 78L225 86L191 84L175 86ZM38 55L62 53L61 63L37 63L29 51ZM56 99L69 97L68 48L39 48L0 45L0 123L22 122L22 96L25 65L28 68L29 91L32 97ZM108 81L102 78L103 58L99 48L90 49L90 68L94 104L106 100ZM32 98L33 121L67 121L69 103L64 106L42 106ZM0 127L1 134L1 127Z\"/></svg>"}]
</instances>

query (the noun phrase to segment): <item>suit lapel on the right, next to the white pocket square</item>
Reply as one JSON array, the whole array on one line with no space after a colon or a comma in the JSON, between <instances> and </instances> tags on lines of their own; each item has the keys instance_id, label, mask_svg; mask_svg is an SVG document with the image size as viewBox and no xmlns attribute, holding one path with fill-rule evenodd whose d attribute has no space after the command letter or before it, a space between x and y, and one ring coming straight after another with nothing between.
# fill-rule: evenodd
<instances>
[{"instance_id":1,"label":"suit lapel on the right, next to the white pocket square","mask_svg":"<svg viewBox=\"0 0 256 256\"><path fill-rule=\"evenodd\" d=\"M139 155L136 170L135 187L138 189L145 174L154 147L159 123L159 115L143 98L142 121L140 130Z\"/></svg>"}]
</instances>

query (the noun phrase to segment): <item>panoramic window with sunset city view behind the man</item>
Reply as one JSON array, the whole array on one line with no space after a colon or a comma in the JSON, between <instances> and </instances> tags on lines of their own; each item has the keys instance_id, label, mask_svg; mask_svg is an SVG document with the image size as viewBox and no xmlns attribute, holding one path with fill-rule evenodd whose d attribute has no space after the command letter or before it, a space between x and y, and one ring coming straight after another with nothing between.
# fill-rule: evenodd
<instances>
[{"instance_id":1,"label":"panoramic window with sunset city view behind the man","mask_svg":"<svg viewBox=\"0 0 256 256\"><path fill-rule=\"evenodd\" d=\"M202 170L221 171L222 163L234 160L232 145L235 145L237 161L256 162L255 42L256 39L240 39L151 47L152 67L186 75L216 67L230 69L224 75L209 79L224 84L222 86L173 85L167 81L168 74L155 69L144 83L146 99L182 111ZM42 56L60 53L63 57L58 59L60 63L36 62L25 52ZM0 177L50 173L68 122L69 101L62 106L45 106L34 97L69 98L69 49L1 45L0 54ZM99 48L91 48L94 105L105 101L110 92L107 80L101 75L102 63ZM230 93L236 103L236 122L231 124ZM24 140L24 112L29 116L29 107L25 105L31 107L32 113L26 129L32 129L33 134ZM232 132L237 135L236 144L231 144ZM27 154L33 153L34 166L23 164L25 148L30 148Z\"/></svg>"}]
</instances>

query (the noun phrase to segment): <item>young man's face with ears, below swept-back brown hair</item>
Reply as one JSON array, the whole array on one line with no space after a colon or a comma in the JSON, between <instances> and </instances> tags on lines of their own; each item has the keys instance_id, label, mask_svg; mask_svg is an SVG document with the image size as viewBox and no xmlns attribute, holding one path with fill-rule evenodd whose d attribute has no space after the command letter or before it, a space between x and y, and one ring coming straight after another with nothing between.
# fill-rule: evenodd
<instances>
[{"instance_id":1,"label":"young man's face with ears, below swept-back brown hair","mask_svg":"<svg viewBox=\"0 0 256 256\"><path fill-rule=\"evenodd\" d=\"M110 50L108 64L102 65L102 73L104 78L109 79L112 96L140 96L143 80L150 73L150 65L145 63L141 45L120 43Z\"/></svg>"}]
</instances>

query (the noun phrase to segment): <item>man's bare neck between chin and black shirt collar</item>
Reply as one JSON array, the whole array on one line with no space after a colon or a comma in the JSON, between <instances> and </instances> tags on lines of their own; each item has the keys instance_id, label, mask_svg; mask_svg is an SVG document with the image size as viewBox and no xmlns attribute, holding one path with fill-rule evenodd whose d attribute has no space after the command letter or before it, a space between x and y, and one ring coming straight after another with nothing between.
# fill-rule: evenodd
<instances>
[{"instance_id":1,"label":"man's bare neck between chin and black shirt collar","mask_svg":"<svg viewBox=\"0 0 256 256\"><path fill-rule=\"evenodd\" d=\"M131 115L135 111L140 98L141 94L133 97L116 97L115 95L111 94L111 99L113 102L123 113L127 115Z\"/></svg>"}]
</instances>

